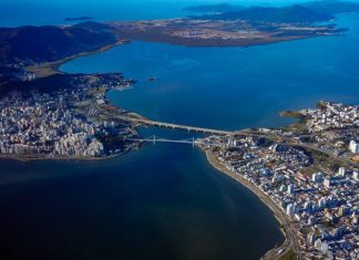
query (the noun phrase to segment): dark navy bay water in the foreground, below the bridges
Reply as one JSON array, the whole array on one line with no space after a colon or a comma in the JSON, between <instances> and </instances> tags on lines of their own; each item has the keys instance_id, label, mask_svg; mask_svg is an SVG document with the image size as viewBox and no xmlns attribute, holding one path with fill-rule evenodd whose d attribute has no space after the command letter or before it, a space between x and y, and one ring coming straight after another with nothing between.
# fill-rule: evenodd
<instances>
[{"instance_id":1,"label":"dark navy bay water in the foreground, below the bridges","mask_svg":"<svg viewBox=\"0 0 359 260\"><path fill-rule=\"evenodd\" d=\"M16 259L258 259L283 241L271 211L191 145L1 167L1 250Z\"/></svg>"}]
</instances>

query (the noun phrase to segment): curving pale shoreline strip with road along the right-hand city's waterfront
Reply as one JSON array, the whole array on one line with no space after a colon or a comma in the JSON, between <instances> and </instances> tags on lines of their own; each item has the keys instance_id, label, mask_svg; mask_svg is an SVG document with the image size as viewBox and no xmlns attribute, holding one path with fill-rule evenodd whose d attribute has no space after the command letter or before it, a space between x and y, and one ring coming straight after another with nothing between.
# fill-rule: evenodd
<instances>
[{"instance_id":1,"label":"curving pale shoreline strip with road along the right-hand city's waterfront","mask_svg":"<svg viewBox=\"0 0 359 260\"><path fill-rule=\"evenodd\" d=\"M296 235L294 233L293 222L291 220L285 215L281 208L265 193L263 193L256 185L252 184L247 179L243 178L240 175L233 173L232 170L227 169L211 150L206 150L199 147L202 152L205 153L207 162L214 167L215 169L219 170L220 173L227 175L228 177L235 179L240 185L245 186L249 189L253 194L255 194L258 199L268 207L274 217L280 225L280 231L284 235L285 240L280 246L276 246L275 248L269 249L260 259L261 260L273 260L273 259L280 259L290 250L297 252L298 246L295 241ZM284 250L281 250L284 249ZM281 250L281 252L279 251Z\"/></svg>"}]
</instances>

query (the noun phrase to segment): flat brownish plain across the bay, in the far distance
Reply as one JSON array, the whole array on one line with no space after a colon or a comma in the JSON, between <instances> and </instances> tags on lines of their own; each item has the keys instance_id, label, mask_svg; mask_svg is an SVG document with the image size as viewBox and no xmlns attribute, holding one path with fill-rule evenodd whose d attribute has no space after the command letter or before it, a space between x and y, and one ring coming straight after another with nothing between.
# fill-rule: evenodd
<instances>
[{"instance_id":1,"label":"flat brownish plain across the bay, in the far distance","mask_svg":"<svg viewBox=\"0 0 359 260\"><path fill-rule=\"evenodd\" d=\"M308 25L284 22L259 22L243 20L167 19L109 22L122 37L144 41L168 42L182 45L254 45L279 41L298 40L320 35L345 33L334 24Z\"/></svg>"}]
</instances>

